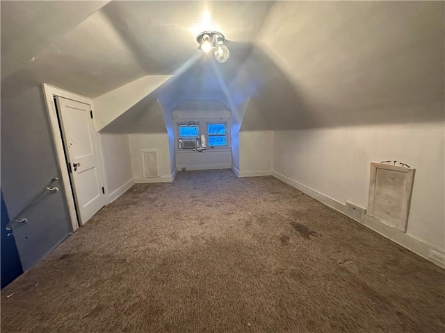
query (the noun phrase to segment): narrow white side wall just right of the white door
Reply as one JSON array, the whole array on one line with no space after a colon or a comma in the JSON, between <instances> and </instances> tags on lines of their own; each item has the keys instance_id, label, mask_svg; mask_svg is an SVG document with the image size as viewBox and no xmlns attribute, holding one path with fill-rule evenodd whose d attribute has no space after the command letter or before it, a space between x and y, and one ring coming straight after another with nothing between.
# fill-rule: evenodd
<instances>
[{"instance_id":1,"label":"narrow white side wall just right of the white door","mask_svg":"<svg viewBox=\"0 0 445 333\"><path fill-rule=\"evenodd\" d=\"M127 134L100 133L108 201L118 198L133 185L133 169Z\"/></svg>"}]
</instances>

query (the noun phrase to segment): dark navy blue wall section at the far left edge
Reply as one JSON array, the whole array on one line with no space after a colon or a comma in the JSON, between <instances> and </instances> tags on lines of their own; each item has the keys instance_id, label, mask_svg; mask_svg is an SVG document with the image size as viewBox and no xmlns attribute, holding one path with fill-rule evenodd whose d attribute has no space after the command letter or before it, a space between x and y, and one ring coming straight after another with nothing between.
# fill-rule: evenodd
<instances>
[{"instance_id":1,"label":"dark navy blue wall section at the far left edge","mask_svg":"<svg viewBox=\"0 0 445 333\"><path fill-rule=\"evenodd\" d=\"M8 211L1 192L1 289L23 273L15 239L12 235L8 237L8 231L5 229L8 222Z\"/></svg>"}]
</instances>

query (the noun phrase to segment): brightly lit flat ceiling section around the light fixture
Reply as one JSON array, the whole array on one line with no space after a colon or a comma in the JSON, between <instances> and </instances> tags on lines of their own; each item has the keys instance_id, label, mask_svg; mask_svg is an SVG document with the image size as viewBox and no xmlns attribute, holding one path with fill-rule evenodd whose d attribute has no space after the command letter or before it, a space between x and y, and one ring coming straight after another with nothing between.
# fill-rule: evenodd
<instances>
[{"instance_id":1,"label":"brightly lit flat ceiling section around the light fixture","mask_svg":"<svg viewBox=\"0 0 445 333\"><path fill-rule=\"evenodd\" d=\"M113 1L103 8L147 74L172 74L197 49L202 13L228 40L254 40L271 3L249 1Z\"/></svg>"}]
</instances>

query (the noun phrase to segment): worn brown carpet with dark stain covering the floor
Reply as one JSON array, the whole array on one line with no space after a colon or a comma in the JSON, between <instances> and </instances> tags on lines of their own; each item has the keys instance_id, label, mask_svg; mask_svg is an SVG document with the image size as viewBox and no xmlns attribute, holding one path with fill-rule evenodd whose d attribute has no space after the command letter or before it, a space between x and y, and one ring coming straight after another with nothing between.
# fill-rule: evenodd
<instances>
[{"instance_id":1,"label":"worn brown carpet with dark stain covering the floor","mask_svg":"<svg viewBox=\"0 0 445 333\"><path fill-rule=\"evenodd\" d=\"M280 180L188 171L133 186L3 289L1 332L445 332L444 288Z\"/></svg>"}]
</instances>

